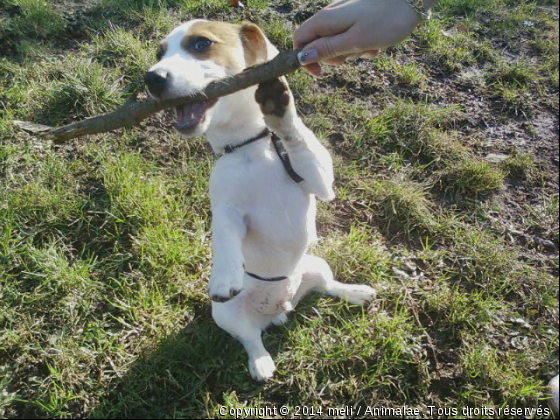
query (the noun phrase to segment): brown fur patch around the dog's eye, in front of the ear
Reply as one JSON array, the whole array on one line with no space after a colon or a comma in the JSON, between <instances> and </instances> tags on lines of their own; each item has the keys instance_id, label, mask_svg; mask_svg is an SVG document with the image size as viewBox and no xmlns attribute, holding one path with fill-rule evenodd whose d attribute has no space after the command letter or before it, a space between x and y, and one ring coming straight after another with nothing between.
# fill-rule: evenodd
<instances>
[{"instance_id":1,"label":"brown fur patch around the dog's eye, in front of the ear","mask_svg":"<svg viewBox=\"0 0 560 420\"><path fill-rule=\"evenodd\" d=\"M197 50L204 40L210 41L208 48ZM225 22L197 22L181 41L181 47L200 60L213 62L229 69L242 70L239 51L243 48L239 37L239 26Z\"/></svg>"}]
</instances>

